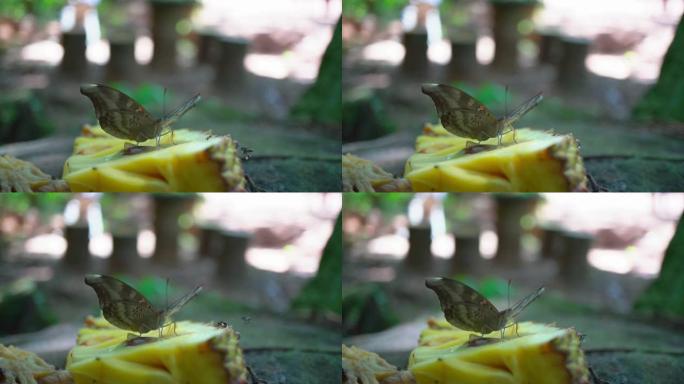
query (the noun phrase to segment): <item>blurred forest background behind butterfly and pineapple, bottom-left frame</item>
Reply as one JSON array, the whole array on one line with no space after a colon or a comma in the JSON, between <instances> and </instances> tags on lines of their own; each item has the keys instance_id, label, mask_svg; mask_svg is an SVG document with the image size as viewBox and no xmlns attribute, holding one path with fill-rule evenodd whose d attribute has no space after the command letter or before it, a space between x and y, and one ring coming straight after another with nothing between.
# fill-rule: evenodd
<instances>
[{"instance_id":1,"label":"blurred forest background behind butterfly and pineapple, bottom-left frame","mask_svg":"<svg viewBox=\"0 0 684 384\"><path fill-rule=\"evenodd\" d=\"M337 377L341 199L4 194L0 343L63 367L86 315L100 313L84 283L85 274L100 273L133 285L157 308L202 285L176 319L232 325L261 378L306 382L314 372L299 359ZM274 364L279 354L290 360Z\"/></svg>"}]
</instances>

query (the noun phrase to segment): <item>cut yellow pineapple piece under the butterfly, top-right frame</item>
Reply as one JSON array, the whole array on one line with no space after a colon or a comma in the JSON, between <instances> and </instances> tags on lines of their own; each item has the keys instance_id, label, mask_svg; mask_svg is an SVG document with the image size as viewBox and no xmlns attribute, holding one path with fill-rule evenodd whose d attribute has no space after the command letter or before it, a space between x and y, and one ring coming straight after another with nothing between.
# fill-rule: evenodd
<instances>
[{"instance_id":1,"label":"cut yellow pineapple piece under the butterfly, top-right frame","mask_svg":"<svg viewBox=\"0 0 684 384\"><path fill-rule=\"evenodd\" d=\"M586 191L587 178L577 141L529 128L508 132L482 146L427 125L404 169L416 192ZM489 147L487 147L489 146Z\"/></svg>"}]
</instances>

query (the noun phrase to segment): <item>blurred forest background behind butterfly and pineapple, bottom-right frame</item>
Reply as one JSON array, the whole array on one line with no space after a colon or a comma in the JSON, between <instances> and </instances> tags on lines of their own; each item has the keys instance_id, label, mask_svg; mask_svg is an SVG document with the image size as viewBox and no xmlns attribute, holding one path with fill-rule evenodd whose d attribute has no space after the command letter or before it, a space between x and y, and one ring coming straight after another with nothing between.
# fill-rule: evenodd
<instances>
[{"instance_id":1,"label":"blurred forest background behind butterfly and pineapple, bottom-right frame","mask_svg":"<svg viewBox=\"0 0 684 384\"><path fill-rule=\"evenodd\" d=\"M653 382L674 383L683 211L684 194L345 194L344 342L405 367L425 321L443 316L427 277L463 281L499 310L545 286L521 321L575 327L608 382L653 379L657 365Z\"/></svg>"}]
</instances>

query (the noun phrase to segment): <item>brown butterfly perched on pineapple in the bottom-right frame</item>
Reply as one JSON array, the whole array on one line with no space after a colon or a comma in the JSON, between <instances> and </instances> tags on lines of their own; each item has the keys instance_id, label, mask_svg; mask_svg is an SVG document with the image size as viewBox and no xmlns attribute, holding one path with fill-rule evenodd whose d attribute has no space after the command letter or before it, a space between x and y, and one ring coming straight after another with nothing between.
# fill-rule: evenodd
<instances>
[{"instance_id":1,"label":"brown butterfly perched on pineapple in the bottom-right frame","mask_svg":"<svg viewBox=\"0 0 684 384\"><path fill-rule=\"evenodd\" d=\"M425 286L437 294L449 324L482 335L506 328L509 322L514 321L525 307L544 292L544 287L541 287L511 308L499 311L479 292L460 281L434 277L426 279Z\"/></svg>"}]
</instances>

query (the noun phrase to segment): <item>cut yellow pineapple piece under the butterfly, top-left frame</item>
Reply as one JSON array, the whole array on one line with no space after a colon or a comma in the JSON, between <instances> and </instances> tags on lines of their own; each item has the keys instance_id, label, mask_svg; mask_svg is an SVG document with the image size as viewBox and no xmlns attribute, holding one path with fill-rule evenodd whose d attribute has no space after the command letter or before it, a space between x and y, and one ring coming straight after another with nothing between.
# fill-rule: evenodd
<instances>
[{"instance_id":1,"label":"cut yellow pineapple piece under the butterfly, top-left frame","mask_svg":"<svg viewBox=\"0 0 684 384\"><path fill-rule=\"evenodd\" d=\"M64 164L63 178L74 192L244 191L245 178L235 142L186 129L129 148L130 143L86 126Z\"/></svg>"}]
</instances>

